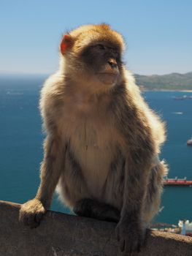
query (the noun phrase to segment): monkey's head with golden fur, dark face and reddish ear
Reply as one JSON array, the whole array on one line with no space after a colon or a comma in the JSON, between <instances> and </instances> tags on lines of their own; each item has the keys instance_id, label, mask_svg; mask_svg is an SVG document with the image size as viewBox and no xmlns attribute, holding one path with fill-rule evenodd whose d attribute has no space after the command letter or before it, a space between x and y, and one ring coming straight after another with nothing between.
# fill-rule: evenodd
<instances>
[{"instance_id":1,"label":"monkey's head with golden fur, dark face and reddish ear","mask_svg":"<svg viewBox=\"0 0 192 256\"><path fill-rule=\"evenodd\" d=\"M110 26L80 26L61 41L61 69L92 91L110 89L121 80L123 48L123 38Z\"/></svg>"}]
</instances>

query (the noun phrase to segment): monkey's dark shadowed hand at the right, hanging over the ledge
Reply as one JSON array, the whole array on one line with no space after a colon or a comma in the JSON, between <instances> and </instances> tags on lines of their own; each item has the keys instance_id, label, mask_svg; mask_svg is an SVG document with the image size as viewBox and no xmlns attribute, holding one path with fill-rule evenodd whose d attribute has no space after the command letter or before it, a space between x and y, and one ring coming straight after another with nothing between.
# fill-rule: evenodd
<instances>
[{"instance_id":1,"label":"monkey's dark shadowed hand at the right, hanging over the ledge","mask_svg":"<svg viewBox=\"0 0 192 256\"><path fill-rule=\"evenodd\" d=\"M131 252L140 252L140 248L145 241L145 230L142 229L138 222L120 220L115 233L120 242L120 252L123 255L130 255Z\"/></svg>"}]
</instances>

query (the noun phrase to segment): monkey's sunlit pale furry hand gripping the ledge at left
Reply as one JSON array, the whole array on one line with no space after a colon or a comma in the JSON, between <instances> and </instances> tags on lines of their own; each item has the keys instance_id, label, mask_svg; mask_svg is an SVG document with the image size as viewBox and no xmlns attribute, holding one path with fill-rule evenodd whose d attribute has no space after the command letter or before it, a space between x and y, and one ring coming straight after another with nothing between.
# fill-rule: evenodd
<instances>
[{"instance_id":1,"label":"monkey's sunlit pale furry hand gripping the ledge at left","mask_svg":"<svg viewBox=\"0 0 192 256\"><path fill-rule=\"evenodd\" d=\"M19 220L23 222L24 225L29 225L31 228L37 227L45 211L42 203L34 198L20 207Z\"/></svg>"}]
</instances>

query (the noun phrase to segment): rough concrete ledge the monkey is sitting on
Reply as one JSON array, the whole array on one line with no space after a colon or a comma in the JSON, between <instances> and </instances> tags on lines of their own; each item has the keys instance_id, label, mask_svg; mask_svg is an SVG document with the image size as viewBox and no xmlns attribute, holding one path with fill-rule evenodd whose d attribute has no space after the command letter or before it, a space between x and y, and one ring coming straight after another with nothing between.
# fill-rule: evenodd
<instances>
[{"instance_id":1,"label":"rough concrete ledge the monkey is sitting on","mask_svg":"<svg viewBox=\"0 0 192 256\"><path fill-rule=\"evenodd\" d=\"M36 229L18 222L20 204L0 201L0 256L116 256L115 224L48 211ZM120 254L119 254L120 255ZM139 256L191 256L192 238L149 232Z\"/></svg>"}]
</instances>

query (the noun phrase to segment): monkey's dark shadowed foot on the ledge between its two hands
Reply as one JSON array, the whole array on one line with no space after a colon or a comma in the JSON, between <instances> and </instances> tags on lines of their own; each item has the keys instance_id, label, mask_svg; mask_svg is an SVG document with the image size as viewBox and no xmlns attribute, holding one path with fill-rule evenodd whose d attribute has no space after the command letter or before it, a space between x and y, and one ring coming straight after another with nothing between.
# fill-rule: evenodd
<instances>
[{"instance_id":1,"label":"monkey's dark shadowed foot on the ledge between its two hands","mask_svg":"<svg viewBox=\"0 0 192 256\"><path fill-rule=\"evenodd\" d=\"M120 211L117 208L89 198L79 200L73 211L82 217L91 217L109 222L118 222L120 219Z\"/></svg>"}]
</instances>

